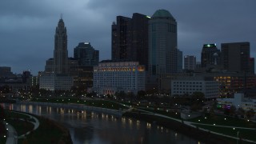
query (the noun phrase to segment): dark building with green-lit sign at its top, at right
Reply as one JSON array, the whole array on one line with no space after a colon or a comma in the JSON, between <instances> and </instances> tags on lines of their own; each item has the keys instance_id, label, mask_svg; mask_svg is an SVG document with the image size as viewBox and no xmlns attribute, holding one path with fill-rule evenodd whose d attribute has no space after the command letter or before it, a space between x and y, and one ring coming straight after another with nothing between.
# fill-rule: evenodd
<instances>
[{"instance_id":1,"label":"dark building with green-lit sign at its top, at right","mask_svg":"<svg viewBox=\"0 0 256 144\"><path fill-rule=\"evenodd\" d=\"M216 66L221 64L221 53L216 44L204 44L201 52L201 66Z\"/></svg>"}]
</instances>

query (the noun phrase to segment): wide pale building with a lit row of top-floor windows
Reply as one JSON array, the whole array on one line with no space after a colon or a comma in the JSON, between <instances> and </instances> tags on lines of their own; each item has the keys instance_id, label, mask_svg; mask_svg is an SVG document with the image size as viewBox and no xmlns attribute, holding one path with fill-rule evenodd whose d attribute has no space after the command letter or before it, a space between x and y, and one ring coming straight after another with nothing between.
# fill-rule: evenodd
<instances>
[{"instance_id":1,"label":"wide pale building with a lit row of top-floor windows","mask_svg":"<svg viewBox=\"0 0 256 144\"><path fill-rule=\"evenodd\" d=\"M100 62L94 66L94 91L115 94L117 91L137 94L145 90L145 66L138 62Z\"/></svg>"}]
</instances>

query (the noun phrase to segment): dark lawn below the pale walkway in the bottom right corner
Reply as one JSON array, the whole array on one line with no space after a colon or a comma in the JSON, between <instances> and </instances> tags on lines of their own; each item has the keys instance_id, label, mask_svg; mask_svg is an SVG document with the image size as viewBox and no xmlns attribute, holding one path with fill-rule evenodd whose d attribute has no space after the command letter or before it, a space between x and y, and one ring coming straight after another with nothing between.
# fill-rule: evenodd
<instances>
[{"instance_id":1,"label":"dark lawn below the pale walkway in the bottom right corner","mask_svg":"<svg viewBox=\"0 0 256 144\"><path fill-rule=\"evenodd\" d=\"M242 138L250 139L250 140L256 142L256 137L255 137L256 130L233 129L233 128L219 127L219 126L202 126L202 125L197 125L197 124L194 124L194 126L202 127L203 129L206 129L206 130L211 130L214 132L230 135L233 137L237 137L238 136L237 134L239 131L239 135Z\"/></svg>"}]
</instances>

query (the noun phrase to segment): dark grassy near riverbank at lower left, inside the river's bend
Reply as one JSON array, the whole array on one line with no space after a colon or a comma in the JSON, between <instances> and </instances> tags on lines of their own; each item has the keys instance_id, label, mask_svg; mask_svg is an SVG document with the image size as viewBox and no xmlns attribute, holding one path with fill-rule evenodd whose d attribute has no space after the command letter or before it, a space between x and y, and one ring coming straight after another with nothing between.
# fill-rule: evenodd
<instances>
[{"instance_id":1,"label":"dark grassy near riverbank at lower left, inside the river's bend","mask_svg":"<svg viewBox=\"0 0 256 144\"><path fill-rule=\"evenodd\" d=\"M36 118L36 121L38 121L36 123L38 124L33 125L35 122L30 117ZM18 143L73 143L69 130L49 118L20 111L6 110L6 122L17 131L15 138ZM24 122L26 122L26 125L22 124Z\"/></svg>"}]
</instances>

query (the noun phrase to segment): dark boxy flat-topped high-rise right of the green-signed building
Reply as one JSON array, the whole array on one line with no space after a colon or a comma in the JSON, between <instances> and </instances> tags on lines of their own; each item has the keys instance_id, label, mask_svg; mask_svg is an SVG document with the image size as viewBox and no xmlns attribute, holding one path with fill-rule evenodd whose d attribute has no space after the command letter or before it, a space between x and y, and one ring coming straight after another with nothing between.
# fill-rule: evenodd
<instances>
[{"instance_id":1,"label":"dark boxy flat-topped high-rise right of the green-signed building","mask_svg":"<svg viewBox=\"0 0 256 144\"><path fill-rule=\"evenodd\" d=\"M250 42L222 43L223 69L250 72Z\"/></svg>"}]
</instances>

